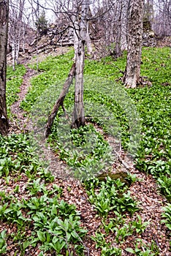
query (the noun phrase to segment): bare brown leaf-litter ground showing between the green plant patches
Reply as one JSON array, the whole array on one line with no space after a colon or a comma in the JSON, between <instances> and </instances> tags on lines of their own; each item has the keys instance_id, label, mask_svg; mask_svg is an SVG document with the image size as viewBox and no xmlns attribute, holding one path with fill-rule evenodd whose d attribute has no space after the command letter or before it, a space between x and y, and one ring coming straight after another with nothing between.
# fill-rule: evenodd
<instances>
[{"instance_id":1,"label":"bare brown leaf-litter ground showing between the green plant patches","mask_svg":"<svg viewBox=\"0 0 171 256\"><path fill-rule=\"evenodd\" d=\"M18 94L18 101L15 102L11 107L12 112L12 121L10 125L10 133L20 133L20 132L29 132L31 129L31 124L28 116L26 113L20 109L20 102L24 99L28 88L31 86L30 79L34 75L37 75L35 70L26 67L26 75L23 77L23 84L20 86L20 93ZM114 148L113 138L108 136L106 138L110 146ZM118 247L122 249L121 255L132 255L130 252L126 252L127 247L134 246L134 242L137 238L142 239L143 244L146 246L151 244L151 241L155 241L156 252L159 251L160 256L170 256L170 241L168 240L168 230L164 224L161 224L161 212L162 207L166 205L167 200L159 193L159 188L156 185L155 179L151 175L147 175L145 173L141 173L134 167L134 162L126 157L126 152L123 150L117 152L119 158L116 157L115 162L113 163L113 169L120 170L121 172L126 172L126 167L123 165L121 159L126 162L129 166L129 172L133 175L137 176L137 180L129 187L132 197L139 203L140 217L142 222L149 222L148 226L146 227L145 231L142 234L139 234L138 237L134 233L125 238L124 242L121 244L114 244L113 243L113 233L109 233L107 235L106 242L111 243L111 246ZM50 154L53 154L51 151ZM55 155L54 155L55 157ZM48 154L47 154L48 159ZM45 159L45 160L47 160ZM81 226L88 230L86 238L83 240L84 246L88 249L89 255L92 256L99 256L101 255L101 249L96 248L96 242L91 239L91 236L96 236L96 231L100 230L101 233L105 233L104 227L102 227L102 217L97 215L97 212L94 209L94 206L91 205L88 201L88 195L86 193L86 189L83 184L80 183L79 180L71 178L69 176L58 178L58 171L65 170L66 164L61 162L58 157L56 160L51 162L50 169L53 170L53 176L55 176L54 181L50 184L57 184L58 187L62 187L63 194L61 196L69 204L75 204L77 207L77 211L80 213L80 222ZM56 171L55 171L56 170ZM25 198L26 195L26 180L21 179L18 181L18 185L20 187L20 193L18 197ZM8 192L12 192L16 187L15 181L10 181L8 187L4 187L4 182L1 181L0 189L4 190L7 189ZM68 189L70 188L70 189ZM107 219L113 218L113 212L110 212ZM133 217L126 214L126 222L129 223L130 221L134 221L135 215ZM8 225L6 223L0 223L0 231L7 229L7 233L12 233L15 231L15 225ZM31 231L27 230L27 233ZM7 241L7 249L8 254L10 256L16 255L16 248L15 244L12 243L12 240ZM39 246L36 246L34 249L26 249L24 255L39 255ZM155 252L155 249L153 250ZM17 255L20 255L18 253ZM51 254L47 254L51 255ZM87 253L88 255L88 253ZM151 254L149 254L151 255Z\"/></svg>"}]
</instances>

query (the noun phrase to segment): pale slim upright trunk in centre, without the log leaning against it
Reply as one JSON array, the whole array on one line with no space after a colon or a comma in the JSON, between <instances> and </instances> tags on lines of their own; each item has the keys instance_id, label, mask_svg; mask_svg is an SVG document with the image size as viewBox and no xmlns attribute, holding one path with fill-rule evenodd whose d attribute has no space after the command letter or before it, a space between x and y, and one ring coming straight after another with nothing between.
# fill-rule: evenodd
<instances>
[{"instance_id":1,"label":"pale slim upright trunk in centre, without the log leaning against it","mask_svg":"<svg viewBox=\"0 0 171 256\"><path fill-rule=\"evenodd\" d=\"M87 4L83 3L80 18L75 16L75 108L72 128L79 128L85 124L83 105L83 70L85 59L85 44L87 33ZM79 20L80 19L80 20Z\"/></svg>"}]
</instances>

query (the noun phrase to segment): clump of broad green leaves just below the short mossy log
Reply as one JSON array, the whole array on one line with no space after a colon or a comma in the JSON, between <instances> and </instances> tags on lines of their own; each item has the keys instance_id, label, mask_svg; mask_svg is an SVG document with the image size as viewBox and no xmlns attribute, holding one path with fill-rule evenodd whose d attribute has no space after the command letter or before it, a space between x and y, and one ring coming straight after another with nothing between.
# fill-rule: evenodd
<instances>
[{"instance_id":1,"label":"clump of broad green leaves just below the short mossy log","mask_svg":"<svg viewBox=\"0 0 171 256\"><path fill-rule=\"evenodd\" d=\"M118 178L113 180L107 177L107 181L99 182L98 178L86 181L86 190L89 201L102 217L107 217L110 211L118 213L129 212L134 214L138 210L137 203L132 199L128 187Z\"/></svg>"}]
</instances>

